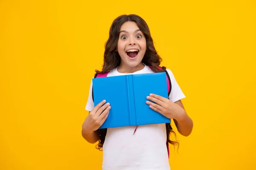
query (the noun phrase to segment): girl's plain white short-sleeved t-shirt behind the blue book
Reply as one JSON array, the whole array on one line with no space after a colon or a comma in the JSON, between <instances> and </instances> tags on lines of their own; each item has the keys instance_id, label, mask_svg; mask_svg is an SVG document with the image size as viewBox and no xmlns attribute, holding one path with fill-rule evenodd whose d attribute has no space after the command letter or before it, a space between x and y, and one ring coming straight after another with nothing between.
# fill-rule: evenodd
<instances>
[{"instance_id":1,"label":"girl's plain white short-sleeved t-shirt behind the blue book","mask_svg":"<svg viewBox=\"0 0 256 170\"><path fill-rule=\"evenodd\" d=\"M169 99L172 102L185 98L177 84L172 71L166 69L171 82L172 91ZM142 70L131 74L154 73L145 66ZM107 77L126 75L119 73L117 68L108 73ZM92 99L92 81L85 110L94 108ZM166 147L166 125L139 125L108 128L103 144L103 170L170 170Z\"/></svg>"}]
</instances>

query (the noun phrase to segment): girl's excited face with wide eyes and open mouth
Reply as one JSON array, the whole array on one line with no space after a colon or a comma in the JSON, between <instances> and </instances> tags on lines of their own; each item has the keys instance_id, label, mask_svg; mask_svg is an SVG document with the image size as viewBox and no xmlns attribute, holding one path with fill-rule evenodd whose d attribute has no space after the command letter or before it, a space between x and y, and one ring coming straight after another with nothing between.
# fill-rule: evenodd
<instances>
[{"instance_id":1,"label":"girl's excited face with wide eyes and open mouth","mask_svg":"<svg viewBox=\"0 0 256 170\"><path fill-rule=\"evenodd\" d=\"M146 39L135 22L125 22L120 28L117 51L121 57L119 68L133 70L140 67L146 52Z\"/></svg>"}]
</instances>

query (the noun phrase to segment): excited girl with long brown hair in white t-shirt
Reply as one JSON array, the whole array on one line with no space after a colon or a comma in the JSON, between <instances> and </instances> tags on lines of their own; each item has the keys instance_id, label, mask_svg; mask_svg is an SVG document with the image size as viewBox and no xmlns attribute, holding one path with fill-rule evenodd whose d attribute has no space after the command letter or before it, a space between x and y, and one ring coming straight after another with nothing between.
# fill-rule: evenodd
<instances>
[{"instance_id":1,"label":"excited girl with long brown hair in white t-shirt","mask_svg":"<svg viewBox=\"0 0 256 170\"><path fill-rule=\"evenodd\" d=\"M146 104L154 111L173 119L178 132L189 136L193 122L181 102L185 96L172 71L165 67L159 68L161 60L154 48L147 23L135 14L122 15L111 25L109 39L105 44L103 68L102 71L96 70L96 74L108 72L107 77L110 77L167 71L172 85L169 99L148 94ZM94 107L92 87L91 81L85 108L89 115L82 125L82 136L90 143L99 141L97 148L103 150L102 169L170 170L166 141L167 144L178 144L169 139L170 133L175 133L171 125L140 125L99 130L108 117L111 103L104 100Z\"/></svg>"}]
</instances>

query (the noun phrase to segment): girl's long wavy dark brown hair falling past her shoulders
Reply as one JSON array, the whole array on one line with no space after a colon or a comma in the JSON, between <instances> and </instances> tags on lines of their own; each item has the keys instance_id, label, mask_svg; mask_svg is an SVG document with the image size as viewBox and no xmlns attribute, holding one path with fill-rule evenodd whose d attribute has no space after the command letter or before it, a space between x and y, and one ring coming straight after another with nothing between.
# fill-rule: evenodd
<instances>
[{"instance_id":1,"label":"girl's long wavy dark brown hair falling past her shoulders","mask_svg":"<svg viewBox=\"0 0 256 170\"><path fill-rule=\"evenodd\" d=\"M102 65L102 71L95 70L96 74L101 74L101 73L111 71L112 69L120 65L121 57L116 51L116 47L119 40L120 28L125 22L128 22L128 21L135 22L145 36L146 52L142 59L142 62L145 65L152 66L152 69L155 72L166 71L166 67L164 66L161 67L162 69L158 68L162 59L157 54L157 51L154 47L153 39L151 37L147 23L140 16L136 14L130 14L130 15L121 15L113 21L109 31L108 41L105 43L104 62ZM167 141L172 145L179 146L179 143L177 141L172 141L170 139L171 133L173 133L176 137L176 133L172 130L170 123L166 123ZM96 145L97 149L102 150L106 134L107 134L107 129L99 129L99 143Z\"/></svg>"}]
</instances>

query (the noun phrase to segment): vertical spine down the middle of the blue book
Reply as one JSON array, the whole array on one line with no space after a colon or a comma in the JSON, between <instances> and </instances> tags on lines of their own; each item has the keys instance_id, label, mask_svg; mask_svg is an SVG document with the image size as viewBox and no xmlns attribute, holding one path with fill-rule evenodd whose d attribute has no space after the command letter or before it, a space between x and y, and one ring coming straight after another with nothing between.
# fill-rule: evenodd
<instances>
[{"instance_id":1,"label":"vertical spine down the middle of the blue book","mask_svg":"<svg viewBox=\"0 0 256 170\"><path fill-rule=\"evenodd\" d=\"M135 103L134 103L134 83L133 76L127 75L127 93L128 93L128 108L129 108L129 118L130 125L135 126L136 123L136 112L135 112Z\"/></svg>"}]
</instances>

